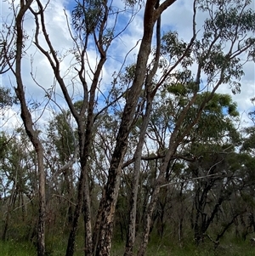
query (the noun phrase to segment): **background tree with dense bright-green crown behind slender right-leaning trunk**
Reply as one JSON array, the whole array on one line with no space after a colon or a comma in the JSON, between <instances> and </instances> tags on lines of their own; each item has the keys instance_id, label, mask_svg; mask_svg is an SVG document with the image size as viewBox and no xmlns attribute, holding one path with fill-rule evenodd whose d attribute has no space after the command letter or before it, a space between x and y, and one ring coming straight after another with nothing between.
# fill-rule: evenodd
<instances>
[{"instance_id":1,"label":"background tree with dense bright-green crown behind slender right-leaning trunk","mask_svg":"<svg viewBox=\"0 0 255 256\"><path fill-rule=\"evenodd\" d=\"M150 181L152 188L160 169L161 159L166 151L167 137L174 128L174 118L178 117L179 110L176 105L183 105L185 101L189 100L189 91L189 87L185 87L180 83L173 85L171 88L167 88L168 97L163 90L161 94L164 94L165 101L162 103L157 101L156 108L154 108L151 114L148 136L150 139L157 141L158 150L156 151L156 155L158 159L157 162L159 162L154 179ZM201 102L207 98L208 94L209 93L198 94L194 104L190 107L190 111L184 118L184 126L190 123L190 120L195 116L195 112L201 105ZM172 105L165 105L164 102L173 99L173 95L175 101L171 101ZM189 194L194 194L195 196L192 197L194 197L194 206L197 208L196 213L199 219L196 221L196 225L195 220L192 220L192 226L197 230L198 225L201 227L201 219L205 221L205 223L202 224L204 230L199 232L199 235L196 231L196 241L198 236L204 236L206 230L212 224L215 215L218 215L220 205L228 201L230 196L233 195L237 189L240 189L229 185L233 182L234 174L235 178L239 174L237 174L236 170L228 171L230 167L226 163L232 161L228 160L229 158L235 158L235 156L232 157L235 146L241 143L240 134L235 128L235 126L237 126L236 123L238 123L238 112L235 102L231 100L228 94L214 94L212 100L207 103L201 112L201 118L195 126L190 129L190 133L184 138L169 161L167 172L165 173L165 182L167 184L161 186L161 191L156 202L156 210L153 213L153 218L150 223L150 231L155 225L155 221L156 229L159 230L161 234L164 230L164 226L170 225L171 228L178 230L178 240L182 242L183 229L190 230L184 225L189 225L187 219L192 219L194 214L194 208L191 209L192 202L185 198ZM219 159L221 161L219 161ZM200 164L207 165L207 168L204 166L201 167ZM191 174L192 172L190 173L191 167L195 167L195 170L198 172L195 176ZM215 171L215 168L218 168L220 171ZM217 175L210 173L212 169ZM227 173L228 175L226 176ZM207 182L207 180L211 182ZM225 187L228 186L226 190L220 186L222 182L225 182ZM221 189L219 189L219 187L221 187ZM194 189L192 190L191 188ZM211 198L208 194L212 194L214 197L211 196ZM209 200L208 197L211 199ZM176 202L176 198L179 200L178 203ZM219 198L219 201L216 201L214 205L215 208L212 208L212 202L214 202L216 198ZM209 207L208 202L210 202ZM203 205L203 209L199 208L200 204ZM170 209L170 211L166 209ZM177 215L176 212L179 214ZM188 212L190 212L191 217ZM212 213L210 218L209 213ZM235 217L236 216L237 215L235 215ZM175 224L171 224L167 218L175 219L178 223L178 227L176 227ZM228 221L233 221L233 218L230 218ZM226 230L227 228L224 232ZM224 232L220 233L220 236L223 236ZM175 234L177 234L177 232L175 232ZM218 236L218 239L220 236ZM175 239L177 237L173 238Z\"/></svg>"}]
</instances>

